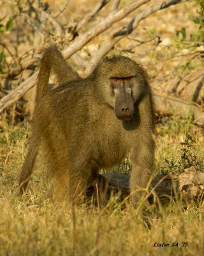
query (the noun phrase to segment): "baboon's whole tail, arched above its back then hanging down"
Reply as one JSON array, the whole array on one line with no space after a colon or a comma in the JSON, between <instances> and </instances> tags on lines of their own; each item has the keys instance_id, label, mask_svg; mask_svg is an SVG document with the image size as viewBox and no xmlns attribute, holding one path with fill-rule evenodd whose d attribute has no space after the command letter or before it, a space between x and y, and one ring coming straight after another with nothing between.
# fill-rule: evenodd
<instances>
[{"instance_id":1,"label":"baboon's whole tail, arched above its back then hanging down","mask_svg":"<svg viewBox=\"0 0 204 256\"><path fill-rule=\"evenodd\" d=\"M68 83L73 80L80 79L80 76L78 76L77 72L73 70L68 65L68 63L66 63L66 60L64 60L64 57L57 49L56 45L51 45L50 47L45 48L43 50L43 58L40 62L40 72L38 74L36 106L38 106L40 100L43 99L43 97L47 94L48 81L50 77L50 72L52 70L54 71L55 77L59 84ZM20 173L20 195L22 195L22 193L24 193L25 189L27 188L27 184L29 182L29 178L33 171L34 163L38 154L38 147L40 145L40 138L38 138L39 133L34 129L34 122L32 128L33 129L27 156L25 157L25 163Z\"/></svg>"}]
</instances>

